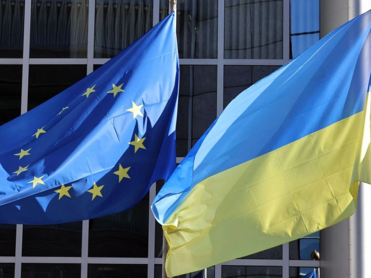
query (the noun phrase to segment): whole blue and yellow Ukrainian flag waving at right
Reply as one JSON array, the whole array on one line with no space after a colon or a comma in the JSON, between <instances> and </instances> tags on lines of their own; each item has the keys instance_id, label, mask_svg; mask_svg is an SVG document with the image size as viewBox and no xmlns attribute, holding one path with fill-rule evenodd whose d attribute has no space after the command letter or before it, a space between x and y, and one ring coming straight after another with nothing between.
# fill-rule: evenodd
<instances>
[{"instance_id":1,"label":"whole blue and yellow Ukrainian flag waving at right","mask_svg":"<svg viewBox=\"0 0 371 278\"><path fill-rule=\"evenodd\" d=\"M370 29L371 12L339 27L237 96L198 140L152 204L169 277L354 213L359 181L371 183Z\"/></svg>"}]
</instances>

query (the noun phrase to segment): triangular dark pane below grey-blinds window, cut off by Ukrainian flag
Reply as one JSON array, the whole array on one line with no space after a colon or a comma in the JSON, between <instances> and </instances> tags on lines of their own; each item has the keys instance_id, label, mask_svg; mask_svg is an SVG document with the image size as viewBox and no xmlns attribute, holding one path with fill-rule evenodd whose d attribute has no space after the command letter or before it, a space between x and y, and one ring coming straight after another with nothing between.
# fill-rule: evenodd
<instances>
[{"instance_id":1,"label":"triangular dark pane below grey-blinds window, cut off by Ukrainian flag","mask_svg":"<svg viewBox=\"0 0 371 278\"><path fill-rule=\"evenodd\" d=\"M223 107L242 91L274 72L280 66L224 66Z\"/></svg>"}]
</instances>

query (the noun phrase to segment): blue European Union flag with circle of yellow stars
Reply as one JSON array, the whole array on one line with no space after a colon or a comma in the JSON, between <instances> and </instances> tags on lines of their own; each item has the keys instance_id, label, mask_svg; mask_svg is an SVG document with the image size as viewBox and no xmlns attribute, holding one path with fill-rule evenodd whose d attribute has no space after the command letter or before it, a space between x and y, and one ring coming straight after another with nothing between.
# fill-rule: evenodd
<instances>
[{"instance_id":1,"label":"blue European Union flag with circle of yellow stars","mask_svg":"<svg viewBox=\"0 0 371 278\"><path fill-rule=\"evenodd\" d=\"M0 222L53 224L134 206L175 167L174 14L75 85L0 127Z\"/></svg>"}]
</instances>

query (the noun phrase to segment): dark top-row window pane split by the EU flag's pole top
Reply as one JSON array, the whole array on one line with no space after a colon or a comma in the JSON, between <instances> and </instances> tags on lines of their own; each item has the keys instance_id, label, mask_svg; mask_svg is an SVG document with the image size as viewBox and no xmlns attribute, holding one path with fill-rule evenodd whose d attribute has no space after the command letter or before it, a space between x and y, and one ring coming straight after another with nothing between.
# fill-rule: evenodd
<instances>
[{"instance_id":1,"label":"dark top-row window pane split by the EU flag's pole top","mask_svg":"<svg viewBox=\"0 0 371 278\"><path fill-rule=\"evenodd\" d=\"M167 16L168 7L168 0L160 1L160 19ZM217 1L177 1L179 58L217 58L217 37Z\"/></svg>"}]
</instances>

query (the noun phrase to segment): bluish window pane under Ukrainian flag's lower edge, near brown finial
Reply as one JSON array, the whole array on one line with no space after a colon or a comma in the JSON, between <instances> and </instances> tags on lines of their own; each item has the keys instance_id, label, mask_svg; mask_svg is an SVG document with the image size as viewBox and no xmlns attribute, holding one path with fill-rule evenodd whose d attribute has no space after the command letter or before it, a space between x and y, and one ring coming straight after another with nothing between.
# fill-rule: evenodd
<instances>
[{"instance_id":1,"label":"bluish window pane under Ukrainian flag's lower edge, near brown finial","mask_svg":"<svg viewBox=\"0 0 371 278\"><path fill-rule=\"evenodd\" d=\"M289 243L290 260L311 260L311 253L319 250L319 232ZM321 253L321 252L320 252Z\"/></svg>"}]
</instances>

